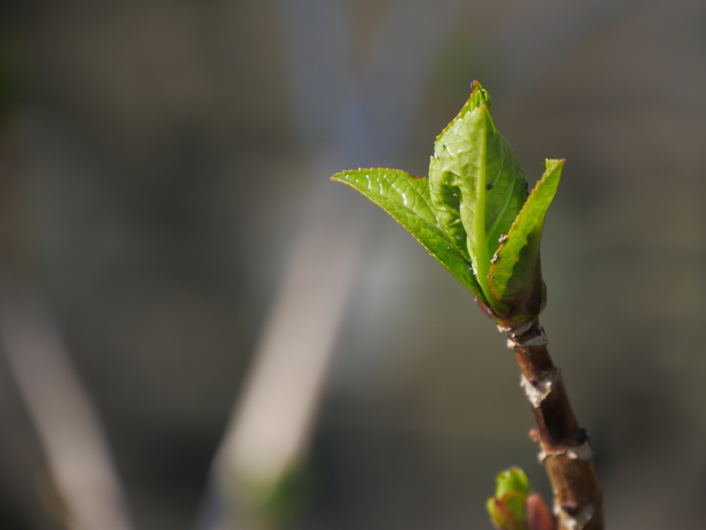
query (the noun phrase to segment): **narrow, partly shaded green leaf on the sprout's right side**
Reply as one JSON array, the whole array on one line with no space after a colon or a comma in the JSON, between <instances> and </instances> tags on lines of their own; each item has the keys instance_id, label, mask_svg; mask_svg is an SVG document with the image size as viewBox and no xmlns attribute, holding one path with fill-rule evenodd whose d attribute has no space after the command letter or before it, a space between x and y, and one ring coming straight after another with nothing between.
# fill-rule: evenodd
<instances>
[{"instance_id":1,"label":"narrow, partly shaded green leaf on the sprout's right side","mask_svg":"<svg viewBox=\"0 0 706 530\"><path fill-rule=\"evenodd\" d=\"M489 286L494 299L513 306L514 325L539 315L546 300L539 260L546 210L556 194L564 159L547 159L546 171L493 257Z\"/></svg>"}]
</instances>

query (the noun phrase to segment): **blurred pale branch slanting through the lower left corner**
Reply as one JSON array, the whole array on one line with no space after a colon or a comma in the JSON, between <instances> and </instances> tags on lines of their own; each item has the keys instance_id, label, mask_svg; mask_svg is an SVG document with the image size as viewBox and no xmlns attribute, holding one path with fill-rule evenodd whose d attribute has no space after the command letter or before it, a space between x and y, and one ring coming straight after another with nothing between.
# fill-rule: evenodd
<instances>
[{"instance_id":1,"label":"blurred pale branch slanting through the lower left corner","mask_svg":"<svg viewBox=\"0 0 706 530\"><path fill-rule=\"evenodd\" d=\"M100 421L42 304L5 299L0 339L68 512L66 526L131 530Z\"/></svg>"}]
</instances>

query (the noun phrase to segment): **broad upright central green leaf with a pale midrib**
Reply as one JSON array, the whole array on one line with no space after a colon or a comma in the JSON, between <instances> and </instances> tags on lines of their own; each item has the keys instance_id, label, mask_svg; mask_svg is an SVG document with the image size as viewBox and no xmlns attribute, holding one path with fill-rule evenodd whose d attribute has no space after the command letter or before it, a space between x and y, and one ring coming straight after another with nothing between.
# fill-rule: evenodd
<instances>
[{"instance_id":1,"label":"broad upright central green leaf with a pale midrib","mask_svg":"<svg viewBox=\"0 0 706 530\"><path fill-rule=\"evenodd\" d=\"M468 102L434 145L429 192L441 228L472 263L484 299L498 315L510 307L491 296L490 259L525 203L526 182L493 123L488 93L474 83Z\"/></svg>"}]
</instances>

